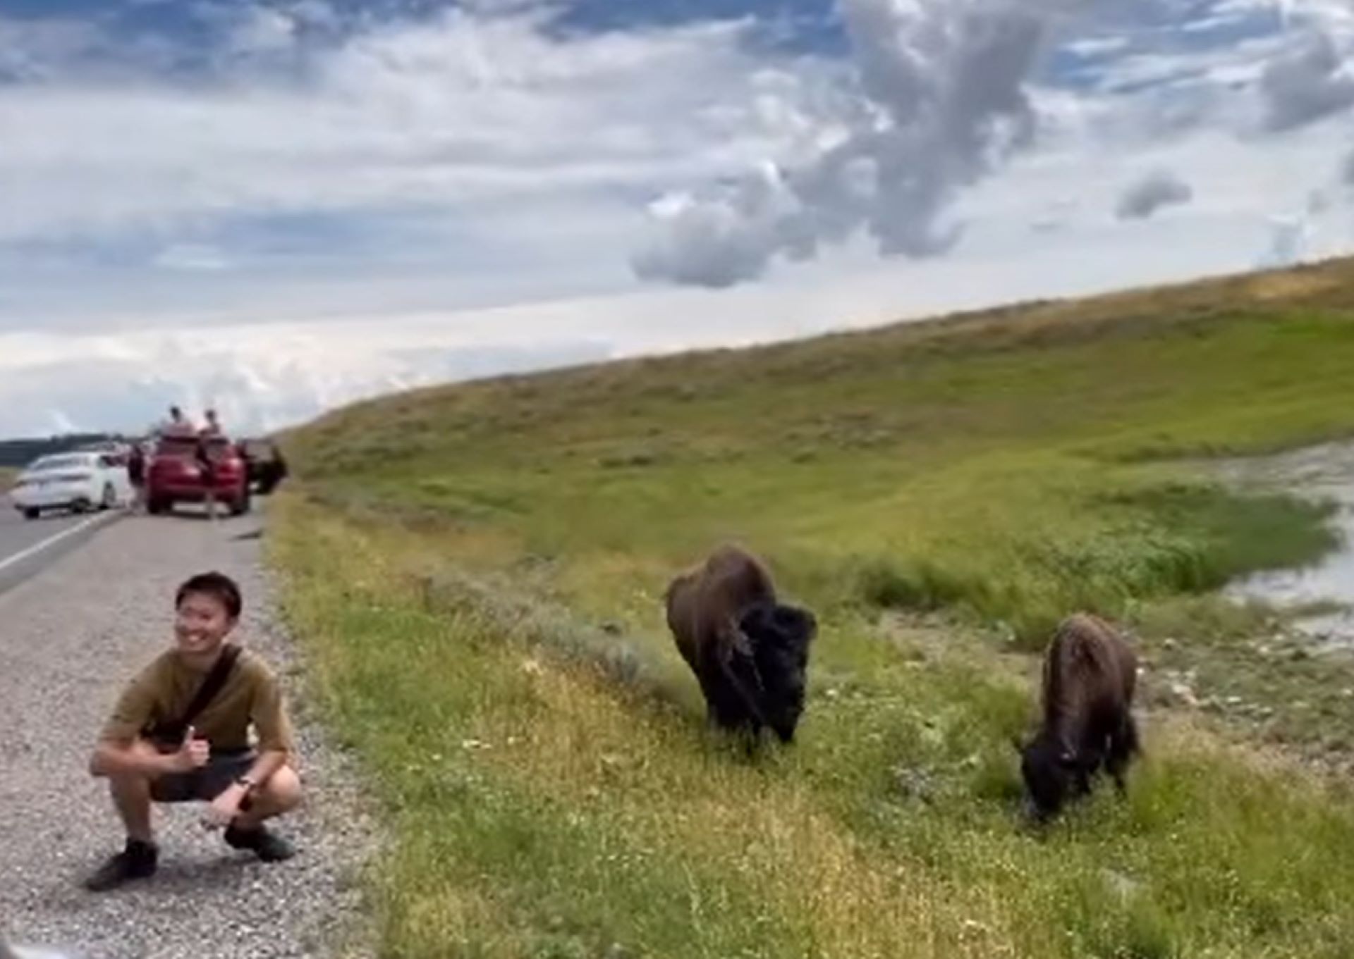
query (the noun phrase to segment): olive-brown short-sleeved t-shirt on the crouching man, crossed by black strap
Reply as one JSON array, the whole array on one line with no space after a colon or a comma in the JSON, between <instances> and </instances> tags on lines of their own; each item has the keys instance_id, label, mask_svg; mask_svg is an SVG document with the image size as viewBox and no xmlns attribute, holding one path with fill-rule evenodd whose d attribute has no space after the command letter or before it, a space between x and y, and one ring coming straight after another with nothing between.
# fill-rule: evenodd
<instances>
[{"instance_id":1,"label":"olive-brown short-sleeved t-shirt on the crouching man, crossed by black strap","mask_svg":"<svg viewBox=\"0 0 1354 959\"><path fill-rule=\"evenodd\" d=\"M100 739L130 744L152 724L179 720L203 679L206 674L188 668L177 651L161 653L123 690ZM213 751L249 748L252 725L260 751L295 753L291 721L282 702L278 678L248 649L240 651L225 684L198 713L192 725Z\"/></svg>"}]
</instances>

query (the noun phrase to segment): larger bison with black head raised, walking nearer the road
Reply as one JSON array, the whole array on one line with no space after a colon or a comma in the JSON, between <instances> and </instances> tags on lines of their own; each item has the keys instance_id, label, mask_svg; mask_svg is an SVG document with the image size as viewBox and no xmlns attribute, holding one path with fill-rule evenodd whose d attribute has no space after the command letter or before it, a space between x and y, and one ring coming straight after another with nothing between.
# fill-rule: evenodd
<instances>
[{"instance_id":1,"label":"larger bison with black head raised, walking nearer the road","mask_svg":"<svg viewBox=\"0 0 1354 959\"><path fill-rule=\"evenodd\" d=\"M776 597L770 572L739 546L722 546L677 576L665 597L668 626L716 726L760 739L795 739L804 711L814 614Z\"/></svg>"}]
</instances>

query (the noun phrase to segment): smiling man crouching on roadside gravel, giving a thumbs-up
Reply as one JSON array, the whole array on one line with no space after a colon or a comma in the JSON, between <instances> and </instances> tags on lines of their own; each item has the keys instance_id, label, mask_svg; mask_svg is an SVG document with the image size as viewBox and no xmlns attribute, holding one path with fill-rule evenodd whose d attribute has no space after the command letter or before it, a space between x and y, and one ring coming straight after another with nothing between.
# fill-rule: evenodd
<instances>
[{"instance_id":1,"label":"smiling man crouching on roadside gravel, giving a thumbs-up","mask_svg":"<svg viewBox=\"0 0 1354 959\"><path fill-rule=\"evenodd\" d=\"M264 862L291 845L264 822L301 802L291 722L272 670L226 642L240 619L236 583L202 574L175 597L175 645L123 690L89 771L107 778L126 828L122 852L85 881L92 891L154 874L153 802L206 802L203 824ZM249 728L257 747L249 744Z\"/></svg>"}]
</instances>

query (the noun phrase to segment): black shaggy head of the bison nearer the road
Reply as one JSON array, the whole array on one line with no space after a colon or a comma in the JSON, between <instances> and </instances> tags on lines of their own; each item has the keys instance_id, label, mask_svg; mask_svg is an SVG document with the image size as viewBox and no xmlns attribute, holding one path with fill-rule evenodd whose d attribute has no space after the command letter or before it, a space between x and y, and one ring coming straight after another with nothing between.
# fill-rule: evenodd
<instances>
[{"instance_id":1,"label":"black shaggy head of the bison nearer the road","mask_svg":"<svg viewBox=\"0 0 1354 959\"><path fill-rule=\"evenodd\" d=\"M804 711L808 647L818 621L804 609L758 603L743 614L739 628L751 640L766 722L781 743L791 743Z\"/></svg>"}]
</instances>

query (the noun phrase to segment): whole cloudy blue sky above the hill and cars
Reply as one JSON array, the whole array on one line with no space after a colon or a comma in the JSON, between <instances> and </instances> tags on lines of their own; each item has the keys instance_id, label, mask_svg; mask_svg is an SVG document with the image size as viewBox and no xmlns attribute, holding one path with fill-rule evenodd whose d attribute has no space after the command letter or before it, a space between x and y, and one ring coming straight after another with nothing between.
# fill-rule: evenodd
<instances>
[{"instance_id":1,"label":"whole cloudy blue sky above the hill and cars","mask_svg":"<svg viewBox=\"0 0 1354 959\"><path fill-rule=\"evenodd\" d=\"M1351 57L1343 0L0 0L0 434L1345 252Z\"/></svg>"}]
</instances>

